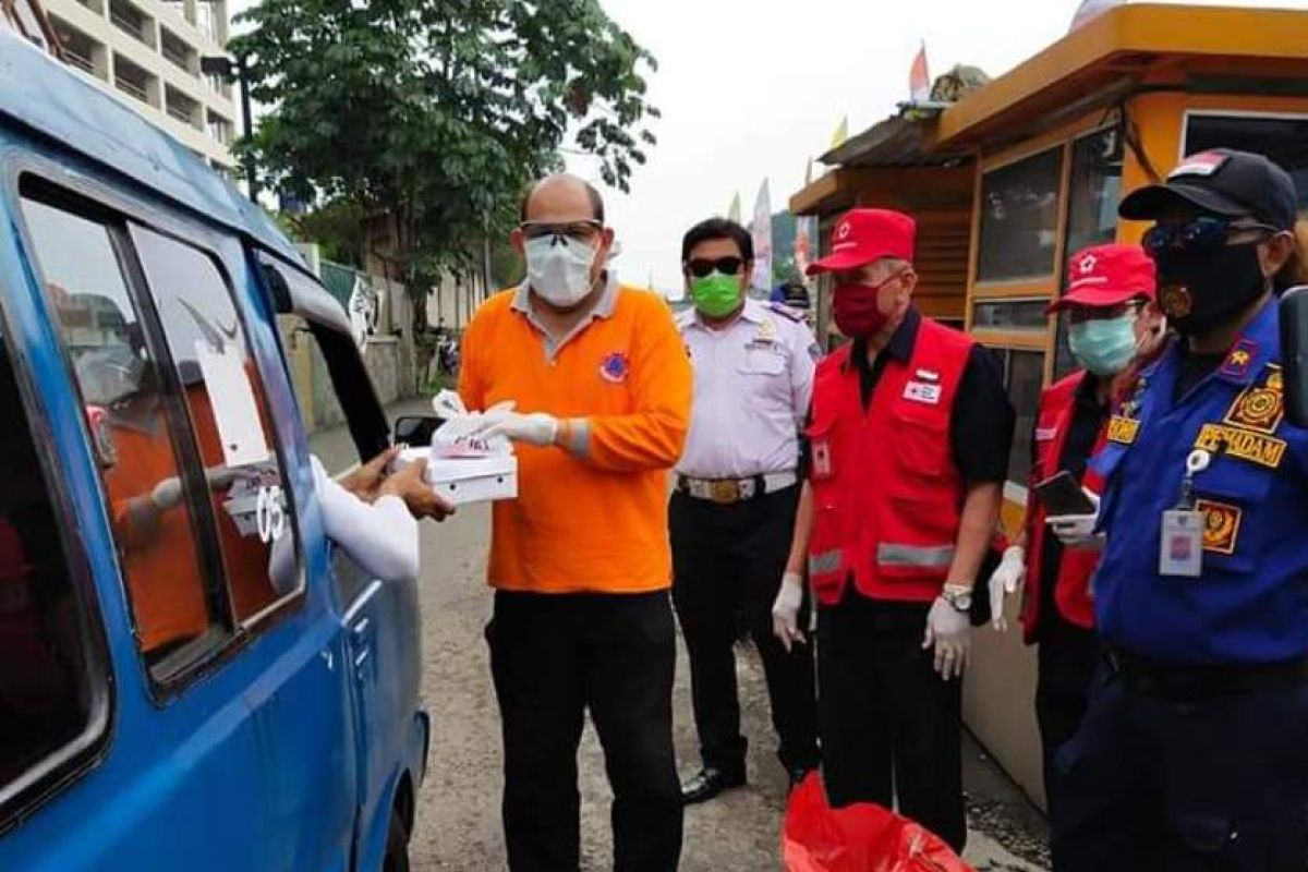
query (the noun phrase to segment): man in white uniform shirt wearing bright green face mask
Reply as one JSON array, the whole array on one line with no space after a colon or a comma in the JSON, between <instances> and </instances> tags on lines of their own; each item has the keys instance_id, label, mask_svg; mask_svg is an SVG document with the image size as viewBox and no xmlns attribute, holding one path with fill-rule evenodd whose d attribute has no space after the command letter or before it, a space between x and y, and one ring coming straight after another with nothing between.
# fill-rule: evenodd
<instances>
[{"instance_id":1,"label":"man in white uniform shirt wearing bright green face mask","mask_svg":"<svg viewBox=\"0 0 1308 872\"><path fill-rule=\"evenodd\" d=\"M672 601L691 656L704 763L681 788L689 804L746 782L738 616L763 659L791 783L818 766L812 648L783 647L769 609L790 549L799 430L819 354L800 312L746 297L753 250L744 227L719 218L696 225L681 260L695 307L680 314L678 328L695 367L695 405L668 520Z\"/></svg>"}]
</instances>

